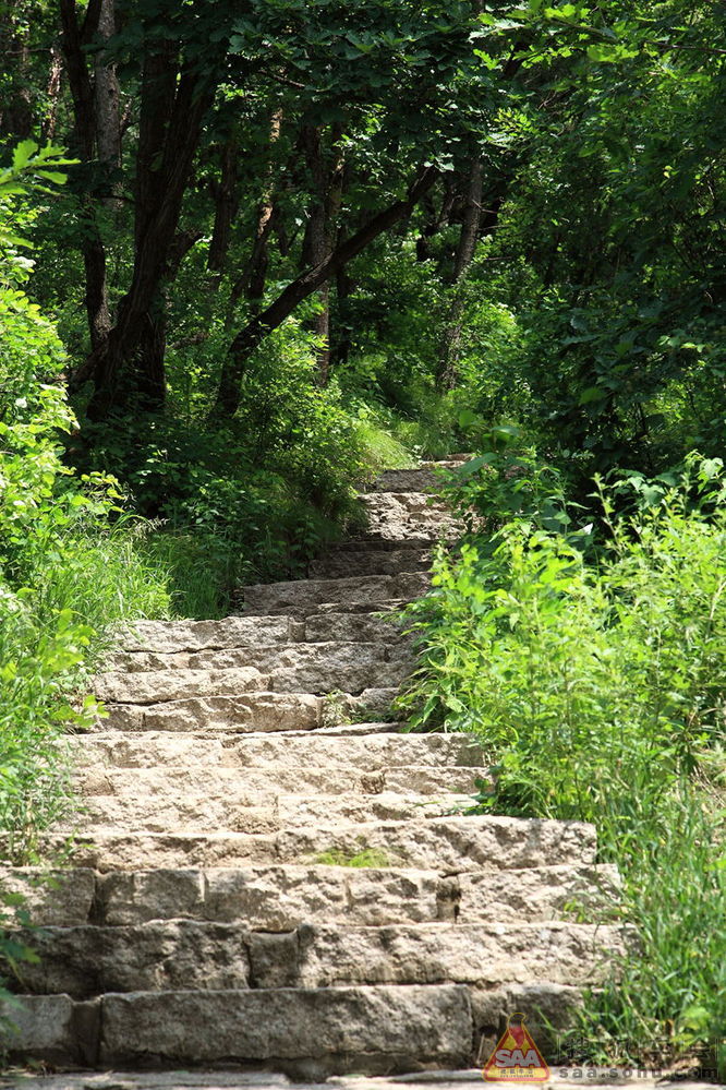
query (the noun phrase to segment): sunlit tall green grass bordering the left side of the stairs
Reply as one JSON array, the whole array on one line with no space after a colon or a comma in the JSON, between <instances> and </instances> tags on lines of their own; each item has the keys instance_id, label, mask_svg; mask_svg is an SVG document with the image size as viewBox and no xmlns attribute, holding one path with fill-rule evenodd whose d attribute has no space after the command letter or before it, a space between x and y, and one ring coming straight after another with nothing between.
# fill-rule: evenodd
<instances>
[{"instance_id":1,"label":"sunlit tall green grass bordering the left side of the stairs","mask_svg":"<svg viewBox=\"0 0 726 1090\"><path fill-rule=\"evenodd\" d=\"M0 587L0 830L14 863L35 862L44 831L74 811L68 731L95 714L84 694L114 627L170 615L144 534L129 522L68 529L34 586Z\"/></svg>"}]
</instances>

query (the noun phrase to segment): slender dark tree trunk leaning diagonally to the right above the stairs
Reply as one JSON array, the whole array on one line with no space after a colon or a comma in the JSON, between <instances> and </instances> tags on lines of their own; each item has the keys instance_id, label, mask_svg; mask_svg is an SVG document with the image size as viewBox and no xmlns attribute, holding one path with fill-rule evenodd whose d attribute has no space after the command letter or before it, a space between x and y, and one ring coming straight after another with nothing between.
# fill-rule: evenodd
<instances>
[{"instance_id":1,"label":"slender dark tree trunk leaning diagonally to the right above the stairs","mask_svg":"<svg viewBox=\"0 0 726 1090\"><path fill-rule=\"evenodd\" d=\"M303 299L317 291L379 235L409 216L416 202L434 184L436 177L437 171L434 167L423 167L403 200L395 201L364 224L359 231L338 243L325 261L298 276L269 307L238 333L222 364L219 391L213 410L215 416L234 416L240 402L240 380L245 361L268 333L276 330Z\"/></svg>"}]
</instances>

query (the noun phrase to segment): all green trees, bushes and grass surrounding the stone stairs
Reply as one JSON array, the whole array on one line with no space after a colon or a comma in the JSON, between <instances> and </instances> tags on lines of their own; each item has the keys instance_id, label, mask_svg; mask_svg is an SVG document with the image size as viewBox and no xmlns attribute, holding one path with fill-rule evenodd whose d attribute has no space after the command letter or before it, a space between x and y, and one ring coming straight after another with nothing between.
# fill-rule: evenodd
<instances>
[{"instance_id":1,"label":"all green trees, bushes and grass surrounding the stone stairs","mask_svg":"<svg viewBox=\"0 0 726 1090\"><path fill-rule=\"evenodd\" d=\"M507 755L482 807L598 825L646 950L602 1055L717 1053L723 5L13 0L0 53L14 858L116 622L233 612L471 451L407 708Z\"/></svg>"}]
</instances>

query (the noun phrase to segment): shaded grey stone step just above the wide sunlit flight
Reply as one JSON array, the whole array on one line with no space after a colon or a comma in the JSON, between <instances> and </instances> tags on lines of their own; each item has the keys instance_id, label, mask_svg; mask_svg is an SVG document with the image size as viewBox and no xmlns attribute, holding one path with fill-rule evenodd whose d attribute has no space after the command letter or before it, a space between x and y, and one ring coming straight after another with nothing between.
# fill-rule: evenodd
<instances>
[{"instance_id":1,"label":"shaded grey stone step just above the wide sunlit flight","mask_svg":"<svg viewBox=\"0 0 726 1090\"><path fill-rule=\"evenodd\" d=\"M245 614L307 613L328 603L354 603L366 609L386 599L410 601L426 594L426 572L361 575L346 579L294 579L243 588Z\"/></svg>"}]
</instances>

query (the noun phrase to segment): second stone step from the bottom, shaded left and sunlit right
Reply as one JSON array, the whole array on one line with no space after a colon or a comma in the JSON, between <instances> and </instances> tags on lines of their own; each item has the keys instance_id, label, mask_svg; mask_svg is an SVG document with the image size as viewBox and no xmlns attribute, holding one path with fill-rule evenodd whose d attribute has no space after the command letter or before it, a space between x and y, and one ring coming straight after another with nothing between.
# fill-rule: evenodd
<instances>
[{"instance_id":1,"label":"second stone step from the bottom, shaded left and sunlit right","mask_svg":"<svg viewBox=\"0 0 726 1090\"><path fill-rule=\"evenodd\" d=\"M20 994L89 999L106 992L349 987L361 984L596 984L625 953L620 926L581 923L303 923L254 931L240 923L166 920L33 934L37 963ZM20 937L29 941L27 932Z\"/></svg>"}]
</instances>

